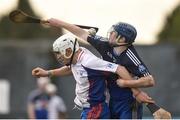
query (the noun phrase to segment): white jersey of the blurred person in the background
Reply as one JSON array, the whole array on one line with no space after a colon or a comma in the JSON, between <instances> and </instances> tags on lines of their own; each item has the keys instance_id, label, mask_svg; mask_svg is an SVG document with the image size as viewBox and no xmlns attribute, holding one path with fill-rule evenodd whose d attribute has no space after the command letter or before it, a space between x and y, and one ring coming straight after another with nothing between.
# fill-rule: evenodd
<instances>
[{"instance_id":1,"label":"white jersey of the blurred person in the background","mask_svg":"<svg viewBox=\"0 0 180 120\"><path fill-rule=\"evenodd\" d=\"M59 119L59 113L66 112L66 106L61 97L55 95L52 96L48 104L48 118Z\"/></svg>"}]
</instances>

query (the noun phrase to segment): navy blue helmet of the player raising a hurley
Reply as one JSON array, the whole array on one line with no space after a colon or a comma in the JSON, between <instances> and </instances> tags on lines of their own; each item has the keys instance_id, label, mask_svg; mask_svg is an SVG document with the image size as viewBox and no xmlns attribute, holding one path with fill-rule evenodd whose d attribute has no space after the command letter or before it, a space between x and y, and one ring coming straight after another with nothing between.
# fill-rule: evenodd
<instances>
[{"instance_id":1,"label":"navy blue helmet of the player raising a hurley","mask_svg":"<svg viewBox=\"0 0 180 120\"><path fill-rule=\"evenodd\" d=\"M134 26L119 22L112 26L112 29L118 33L118 36L125 37L126 43L133 43L135 41L135 38L137 36L137 31Z\"/></svg>"}]
</instances>

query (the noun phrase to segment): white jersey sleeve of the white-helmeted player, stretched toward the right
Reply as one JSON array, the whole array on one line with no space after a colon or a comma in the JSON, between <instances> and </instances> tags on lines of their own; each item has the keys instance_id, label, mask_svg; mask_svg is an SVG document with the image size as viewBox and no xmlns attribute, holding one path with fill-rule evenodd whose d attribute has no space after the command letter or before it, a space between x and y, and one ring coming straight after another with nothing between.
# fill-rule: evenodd
<instances>
[{"instance_id":1,"label":"white jersey sleeve of the white-helmeted player, stretched toward the right","mask_svg":"<svg viewBox=\"0 0 180 120\"><path fill-rule=\"evenodd\" d=\"M112 73L115 73L118 67L117 64L102 60L93 54L86 55L86 60L82 65L90 69Z\"/></svg>"}]
</instances>

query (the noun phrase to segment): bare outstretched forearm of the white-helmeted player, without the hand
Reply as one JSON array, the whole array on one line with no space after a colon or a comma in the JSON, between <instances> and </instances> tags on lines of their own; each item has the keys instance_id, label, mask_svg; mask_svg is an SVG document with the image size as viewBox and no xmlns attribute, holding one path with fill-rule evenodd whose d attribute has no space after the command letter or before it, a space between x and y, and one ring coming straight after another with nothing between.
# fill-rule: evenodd
<instances>
[{"instance_id":1,"label":"bare outstretched forearm of the white-helmeted player, without the hand","mask_svg":"<svg viewBox=\"0 0 180 120\"><path fill-rule=\"evenodd\" d=\"M63 66L58 69L48 71L50 76L66 76L72 74L71 69L68 66Z\"/></svg>"}]
</instances>

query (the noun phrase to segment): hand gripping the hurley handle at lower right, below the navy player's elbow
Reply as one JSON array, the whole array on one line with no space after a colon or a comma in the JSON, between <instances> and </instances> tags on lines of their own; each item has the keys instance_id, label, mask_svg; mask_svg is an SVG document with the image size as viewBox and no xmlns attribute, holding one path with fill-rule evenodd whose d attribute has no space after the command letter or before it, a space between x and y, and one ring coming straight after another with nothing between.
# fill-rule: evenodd
<instances>
[{"instance_id":1,"label":"hand gripping the hurley handle at lower right, below the navy player's elbow","mask_svg":"<svg viewBox=\"0 0 180 120\"><path fill-rule=\"evenodd\" d=\"M155 101L151 97L149 97L147 93L143 91L140 91L140 93L134 95L134 97L140 103L155 103Z\"/></svg>"}]
</instances>

